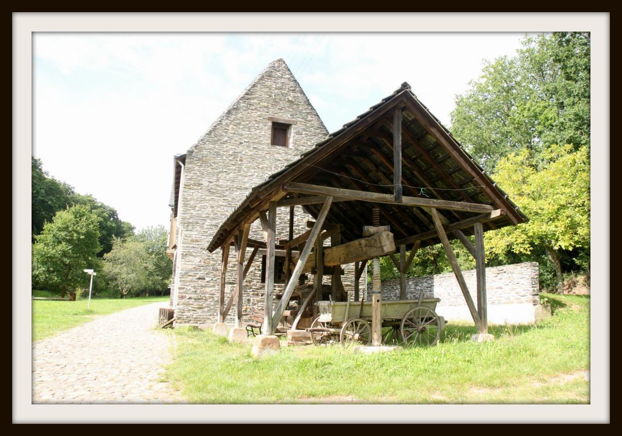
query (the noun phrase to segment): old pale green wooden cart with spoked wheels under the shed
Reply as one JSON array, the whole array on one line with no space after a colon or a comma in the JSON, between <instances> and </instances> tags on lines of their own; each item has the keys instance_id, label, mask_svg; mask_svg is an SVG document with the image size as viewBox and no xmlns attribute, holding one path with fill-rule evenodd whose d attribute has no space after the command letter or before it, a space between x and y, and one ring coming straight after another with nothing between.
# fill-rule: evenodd
<instances>
[{"instance_id":1,"label":"old pale green wooden cart with spoked wheels under the shed","mask_svg":"<svg viewBox=\"0 0 622 436\"><path fill-rule=\"evenodd\" d=\"M383 343L435 345L445 320L435 312L440 298L383 301ZM371 301L318 301L320 316L310 328L315 345L371 344Z\"/></svg>"}]
</instances>

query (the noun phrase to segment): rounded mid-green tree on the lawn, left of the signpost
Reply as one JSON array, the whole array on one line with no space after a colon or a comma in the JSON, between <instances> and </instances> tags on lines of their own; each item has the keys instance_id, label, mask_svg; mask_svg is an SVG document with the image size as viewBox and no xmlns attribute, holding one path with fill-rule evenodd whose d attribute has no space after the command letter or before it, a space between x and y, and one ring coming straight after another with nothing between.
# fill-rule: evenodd
<instances>
[{"instance_id":1,"label":"rounded mid-green tree on the lawn, left of the signpost","mask_svg":"<svg viewBox=\"0 0 622 436\"><path fill-rule=\"evenodd\" d=\"M59 211L35 236L32 246L33 282L75 300L85 285L84 269L101 249L98 218L86 206Z\"/></svg>"}]
</instances>

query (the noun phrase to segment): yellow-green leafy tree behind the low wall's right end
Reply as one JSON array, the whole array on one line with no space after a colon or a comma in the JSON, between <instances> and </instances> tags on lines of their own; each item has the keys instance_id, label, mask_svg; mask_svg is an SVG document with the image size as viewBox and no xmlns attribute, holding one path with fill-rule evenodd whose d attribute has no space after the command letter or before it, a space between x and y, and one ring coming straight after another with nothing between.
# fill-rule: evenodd
<instances>
[{"instance_id":1,"label":"yellow-green leafy tree behind the low wall's right end","mask_svg":"<svg viewBox=\"0 0 622 436\"><path fill-rule=\"evenodd\" d=\"M529 222L486 232L489 255L531 254L539 247L563 287L560 250L590 244L590 158L587 146L550 146L540 156L522 150L501 159L494 174Z\"/></svg>"}]
</instances>

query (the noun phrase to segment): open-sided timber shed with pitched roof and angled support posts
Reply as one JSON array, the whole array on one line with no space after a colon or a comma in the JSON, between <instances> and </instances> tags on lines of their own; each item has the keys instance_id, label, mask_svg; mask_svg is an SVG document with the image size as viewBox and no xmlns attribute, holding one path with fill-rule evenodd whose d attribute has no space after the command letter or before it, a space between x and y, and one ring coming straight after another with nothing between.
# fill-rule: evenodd
<instances>
[{"instance_id":1,"label":"open-sided timber shed with pitched roof and angled support posts","mask_svg":"<svg viewBox=\"0 0 622 436\"><path fill-rule=\"evenodd\" d=\"M275 240L276 209L300 205L315 218L310 229L289 240ZM265 240L248 238L261 220ZM488 331L483 232L526 222L527 217L486 174L434 115L402 83L394 93L330 134L300 159L254 187L223 222L211 240L210 252L221 249L220 321L230 310L225 303L225 274L230 246L237 253L236 310L241 323L243 277L247 247L266 249L264 334L273 334L303 272L313 273L313 291L304 304L322 300L322 282L330 268L330 299L340 301L340 265L391 257L401 275L401 298L406 298L405 273L420 247L443 244L466 304L480 333ZM383 225L381 225L383 224ZM384 227L388 226L388 227ZM389 231L390 230L390 231ZM390 235L389 241L379 239ZM384 235L384 236L382 236ZM467 239L475 235L475 245ZM322 241L331 238L332 247ZM375 239L374 239L375 238ZM476 307L449 240L459 239L476 260ZM275 250L285 251L285 290L275 303ZM406 257L406 252L410 255ZM297 257L292 257L292 252ZM374 265L374 291L379 293L379 266ZM358 300L358 280L355 280ZM374 300L375 301L375 300ZM315 309L314 309L315 310ZM374 341L375 343L376 341Z\"/></svg>"}]
</instances>

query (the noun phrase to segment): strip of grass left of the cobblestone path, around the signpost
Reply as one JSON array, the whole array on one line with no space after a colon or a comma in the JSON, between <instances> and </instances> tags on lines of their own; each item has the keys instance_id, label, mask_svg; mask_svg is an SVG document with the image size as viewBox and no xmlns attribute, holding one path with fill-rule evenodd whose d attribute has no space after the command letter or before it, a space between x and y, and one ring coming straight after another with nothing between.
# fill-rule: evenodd
<instances>
[{"instance_id":1,"label":"strip of grass left of the cobblestone path, around the signpost","mask_svg":"<svg viewBox=\"0 0 622 436\"><path fill-rule=\"evenodd\" d=\"M34 296L47 295L37 291ZM108 315L123 309L141 306L156 301L168 301L170 296L148 296L137 298L92 298L90 311L86 310L87 298L77 301L32 301L32 341L47 338L60 331L75 327L101 315Z\"/></svg>"}]
</instances>

